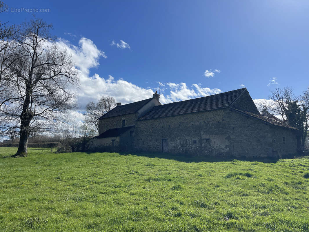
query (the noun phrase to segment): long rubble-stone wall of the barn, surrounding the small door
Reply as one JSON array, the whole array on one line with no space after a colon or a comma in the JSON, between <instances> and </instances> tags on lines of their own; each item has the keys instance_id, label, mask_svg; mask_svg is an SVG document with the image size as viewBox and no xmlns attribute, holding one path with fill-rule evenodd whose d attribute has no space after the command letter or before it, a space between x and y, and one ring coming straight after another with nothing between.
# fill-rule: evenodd
<instances>
[{"instance_id":1,"label":"long rubble-stone wall of the barn, surrounding the small door","mask_svg":"<svg viewBox=\"0 0 309 232\"><path fill-rule=\"evenodd\" d=\"M285 143L280 142L282 137ZM266 157L296 151L294 130L272 126L231 109L136 122L136 150L162 152L162 139L167 139L169 153Z\"/></svg>"}]
</instances>

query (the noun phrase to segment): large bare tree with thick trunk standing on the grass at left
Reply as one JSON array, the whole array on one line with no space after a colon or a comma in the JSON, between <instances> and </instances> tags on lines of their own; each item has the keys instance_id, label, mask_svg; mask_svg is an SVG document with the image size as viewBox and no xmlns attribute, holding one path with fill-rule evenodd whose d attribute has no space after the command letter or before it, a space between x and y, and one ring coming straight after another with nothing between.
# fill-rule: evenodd
<instances>
[{"instance_id":1,"label":"large bare tree with thick trunk standing on the grass at left","mask_svg":"<svg viewBox=\"0 0 309 232\"><path fill-rule=\"evenodd\" d=\"M78 83L71 56L59 48L49 33L52 25L33 19L13 36L17 46L5 62L9 92L1 95L2 130L8 122L20 120L16 156L26 156L32 131L54 131L66 121L68 110L76 108L70 90Z\"/></svg>"}]
</instances>

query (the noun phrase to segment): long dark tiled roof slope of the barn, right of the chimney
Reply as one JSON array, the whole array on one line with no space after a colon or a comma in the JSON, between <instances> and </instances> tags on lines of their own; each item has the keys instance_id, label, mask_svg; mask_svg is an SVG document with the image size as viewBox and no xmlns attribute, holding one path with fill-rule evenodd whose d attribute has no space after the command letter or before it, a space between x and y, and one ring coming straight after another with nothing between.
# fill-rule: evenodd
<instances>
[{"instance_id":1,"label":"long dark tiled roof slope of the barn, right of the chimney","mask_svg":"<svg viewBox=\"0 0 309 232\"><path fill-rule=\"evenodd\" d=\"M138 120L225 108L230 106L245 90L246 88L241 88L207 97L157 105Z\"/></svg>"}]
</instances>

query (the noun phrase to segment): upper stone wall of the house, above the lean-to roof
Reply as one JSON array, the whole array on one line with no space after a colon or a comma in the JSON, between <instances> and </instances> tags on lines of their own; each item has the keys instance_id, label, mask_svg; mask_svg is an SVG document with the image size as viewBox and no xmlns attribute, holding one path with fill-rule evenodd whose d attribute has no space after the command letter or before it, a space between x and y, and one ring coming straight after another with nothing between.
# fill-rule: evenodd
<instances>
[{"instance_id":1,"label":"upper stone wall of the house, above the lean-to roof","mask_svg":"<svg viewBox=\"0 0 309 232\"><path fill-rule=\"evenodd\" d=\"M138 114L134 113L99 119L99 135L108 129L122 127L123 119L125 119L125 126L133 126L137 118Z\"/></svg>"}]
</instances>

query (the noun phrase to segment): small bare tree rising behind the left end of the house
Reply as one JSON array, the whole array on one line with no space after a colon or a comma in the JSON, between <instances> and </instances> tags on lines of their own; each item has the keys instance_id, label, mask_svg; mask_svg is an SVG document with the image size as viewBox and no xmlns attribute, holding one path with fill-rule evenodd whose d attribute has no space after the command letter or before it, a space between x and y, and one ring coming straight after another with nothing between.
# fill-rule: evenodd
<instances>
[{"instance_id":1,"label":"small bare tree rising behind the left end of the house","mask_svg":"<svg viewBox=\"0 0 309 232\"><path fill-rule=\"evenodd\" d=\"M99 132L98 118L103 114L106 114L117 105L115 98L111 96L102 96L98 103L93 101L88 102L86 105L85 122L96 129Z\"/></svg>"}]
</instances>

